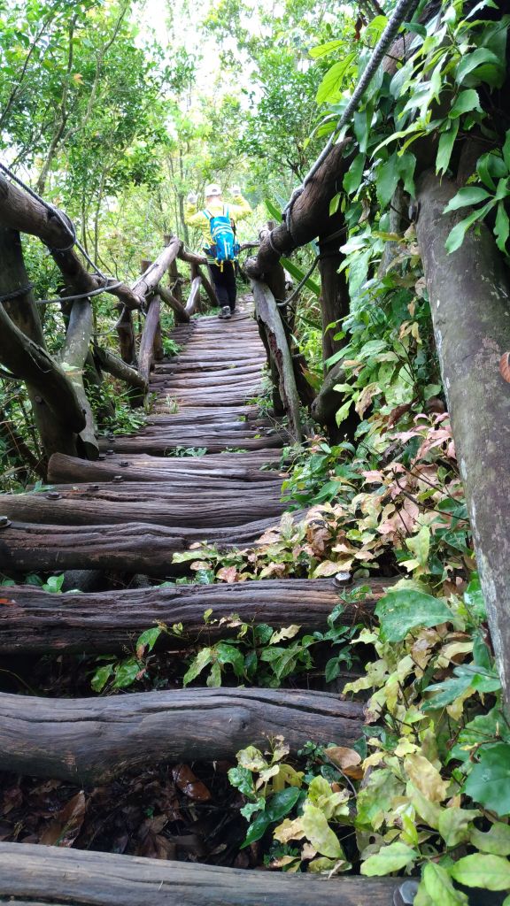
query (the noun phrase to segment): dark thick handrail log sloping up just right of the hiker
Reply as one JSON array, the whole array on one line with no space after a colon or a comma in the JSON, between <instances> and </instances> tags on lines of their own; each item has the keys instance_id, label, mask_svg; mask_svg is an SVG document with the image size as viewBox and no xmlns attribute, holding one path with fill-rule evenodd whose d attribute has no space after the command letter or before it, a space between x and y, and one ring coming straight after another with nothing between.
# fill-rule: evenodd
<instances>
[{"instance_id":1,"label":"dark thick handrail log sloping up just right of the hiker","mask_svg":"<svg viewBox=\"0 0 510 906\"><path fill-rule=\"evenodd\" d=\"M349 161L344 152L350 142L350 139L338 142L309 180L292 207L290 231L286 224L281 223L272 231L271 240L267 236L262 239L256 257L245 262L244 269L252 279L263 280L281 255L289 255L295 248L306 245L324 232L324 224L329 222L329 202L337 193L348 168Z\"/></svg>"}]
</instances>

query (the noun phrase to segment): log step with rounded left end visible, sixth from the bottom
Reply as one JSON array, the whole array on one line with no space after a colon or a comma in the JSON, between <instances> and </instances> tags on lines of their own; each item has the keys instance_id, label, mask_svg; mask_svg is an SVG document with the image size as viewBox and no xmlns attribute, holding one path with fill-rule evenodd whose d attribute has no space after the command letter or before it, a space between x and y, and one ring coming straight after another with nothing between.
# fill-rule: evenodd
<instances>
[{"instance_id":1,"label":"log step with rounded left end visible, sixth from the bottom","mask_svg":"<svg viewBox=\"0 0 510 906\"><path fill-rule=\"evenodd\" d=\"M269 451L272 452L272 451ZM254 450L252 456L259 454ZM104 454L103 454L104 456ZM239 466L235 457L239 458ZM278 453L272 459L259 458L251 466L242 454L212 454L203 457L150 457L105 456L100 461L90 461L54 453L48 464L48 480L57 483L71 481L108 481L121 475L124 481L192 481L202 483L206 479L224 479L225 481L274 482L276 477L284 477L273 469L261 470L265 463L278 466ZM243 465L244 463L244 465Z\"/></svg>"}]
</instances>

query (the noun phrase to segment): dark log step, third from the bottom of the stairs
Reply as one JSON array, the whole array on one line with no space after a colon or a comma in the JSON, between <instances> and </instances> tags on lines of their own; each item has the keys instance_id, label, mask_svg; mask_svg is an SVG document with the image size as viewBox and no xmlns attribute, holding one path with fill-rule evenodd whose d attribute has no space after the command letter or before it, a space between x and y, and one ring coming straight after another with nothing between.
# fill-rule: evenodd
<instances>
[{"instance_id":1,"label":"dark log step, third from the bottom of the stairs","mask_svg":"<svg viewBox=\"0 0 510 906\"><path fill-rule=\"evenodd\" d=\"M365 622L374 603L393 584L372 579L370 592L359 603L347 603L342 622ZM363 583L364 584L364 583ZM303 629L326 627L338 603L338 588L331 579L262 579L259 582L216 585L175 585L132 591L54 595L33 585L4 589L0 605L0 640L5 654L43 654L122 651L141 632L157 622L182 623L184 636L163 636L172 648L195 639L202 644L226 638L236 629L219 624L238 614L243 622L266 622L274 629L298 623ZM204 626L203 614L211 610Z\"/></svg>"}]
</instances>

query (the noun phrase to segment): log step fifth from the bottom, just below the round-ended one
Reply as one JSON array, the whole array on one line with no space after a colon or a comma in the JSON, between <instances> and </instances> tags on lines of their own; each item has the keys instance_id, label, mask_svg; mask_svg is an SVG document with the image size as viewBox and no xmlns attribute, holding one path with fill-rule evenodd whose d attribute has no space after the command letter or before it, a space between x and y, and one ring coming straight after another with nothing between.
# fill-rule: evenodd
<instances>
[{"instance_id":1,"label":"log step fifth from the bottom, just below the round-ended one","mask_svg":"<svg viewBox=\"0 0 510 906\"><path fill-rule=\"evenodd\" d=\"M130 488L131 489L131 488ZM250 496L224 490L222 496L194 495L147 498L142 494L98 494L95 491L67 492L58 497L50 494L0 495L0 516L16 522L44 525L123 525L142 522L146 525L168 525L201 529L202 535L218 526L246 525L256 519L272 516L278 521L285 509L280 493ZM132 499L129 499L129 498Z\"/></svg>"}]
</instances>

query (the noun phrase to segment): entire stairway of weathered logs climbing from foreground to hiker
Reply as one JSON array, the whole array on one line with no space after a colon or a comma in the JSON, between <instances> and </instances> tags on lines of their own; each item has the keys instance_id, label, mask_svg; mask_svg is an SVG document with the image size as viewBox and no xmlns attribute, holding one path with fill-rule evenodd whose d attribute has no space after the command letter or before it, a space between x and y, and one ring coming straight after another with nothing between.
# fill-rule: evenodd
<instances>
[{"instance_id":1,"label":"entire stairway of weathered logs climbing from foreground to hiker","mask_svg":"<svg viewBox=\"0 0 510 906\"><path fill-rule=\"evenodd\" d=\"M278 522L284 427L260 416L265 352L247 311L230 321L201 317L172 333L181 352L155 366L152 414L130 437L100 443L96 461L55 454L52 488L0 496L0 570L104 570L164 578L172 554L193 542L256 544ZM182 456L186 448L205 455ZM188 452L191 452L189 450ZM197 452L196 449L194 452ZM201 450L203 453L203 450ZM359 607L371 612L387 583L371 583ZM5 590L5 654L122 651L155 622L182 622L204 638L215 620L290 622L319 629L338 590L331 580L275 580L213 586L52 595ZM207 639L228 636L212 623ZM172 639L172 645L179 641ZM0 769L27 776L104 782L148 764L231 758L249 743L283 733L291 752L309 739L350 745L362 730L356 702L307 689L182 689L100 699L0 694ZM67 904L259 904L391 906L396 879L289 877L210 865L161 863L108 853L0 843L0 902Z\"/></svg>"}]
</instances>

